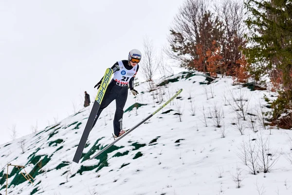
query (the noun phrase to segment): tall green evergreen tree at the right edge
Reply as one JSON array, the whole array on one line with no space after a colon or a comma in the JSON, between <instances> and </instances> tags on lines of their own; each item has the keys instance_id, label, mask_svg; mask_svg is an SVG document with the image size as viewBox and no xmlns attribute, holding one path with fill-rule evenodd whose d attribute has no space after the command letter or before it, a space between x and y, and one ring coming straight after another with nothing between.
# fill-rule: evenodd
<instances>
[{"instance_id":1,"label":"tall green evergreen tree at the right edge","mask_svg":"<svg viewBox=\"0 0 292 195\"><path fill-rule=\"evenodd\" d=\"M273 102L277 120L292 109L292 0L246 0L245 8L251 45L245 54L248 62L260 66L251 74L267 73L280 84L279 96ZM292 127L289 123L285 125Z\"/></svg>"}]
</instances>

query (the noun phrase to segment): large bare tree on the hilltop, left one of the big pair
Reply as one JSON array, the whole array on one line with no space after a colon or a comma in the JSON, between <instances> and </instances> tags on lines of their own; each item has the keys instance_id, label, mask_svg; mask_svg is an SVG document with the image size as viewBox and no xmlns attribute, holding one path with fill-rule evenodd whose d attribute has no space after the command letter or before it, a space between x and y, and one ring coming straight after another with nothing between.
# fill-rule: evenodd
<instances>
[{"instance_id":1,"label":"large bare tree on the hilltop, left one of the big pair","mask_svg":"<svg viewBox=\"0 0 292 195\"><path fill-rule=\"evenodd\" d=\"M186 0L176 16L174 26L170 30L169 48L166 54L181 63L181 66L192 69L195 59L200 59L198 53L203 53L202 69L206 71L206 51L211 48L212 42L218 41L220 22L208 10L207 0ZM198 49L200 45L201 49ZM198 52L200 50L200 52Z\"/></svg>"}]
</instances>

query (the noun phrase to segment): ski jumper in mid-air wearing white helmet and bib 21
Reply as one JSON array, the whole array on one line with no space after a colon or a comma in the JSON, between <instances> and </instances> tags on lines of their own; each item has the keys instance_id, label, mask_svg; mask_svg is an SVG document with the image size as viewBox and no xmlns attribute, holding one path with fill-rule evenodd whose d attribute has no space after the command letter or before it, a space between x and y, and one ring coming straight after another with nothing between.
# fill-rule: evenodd
<instances>
[{"instance_id":1,"label":"ski jumper in mid-air wearing white helmet and bib 21","mask_svg":"<svg viewBox=\"0 0 292 195\"><path fill-rule=\"evenodd\" d=\"M105 109L113 100L116 100L116 111L113 119L113 130L115 137L119 137L125 133L123 130L123 114L124 106L128 97L128 85L134 96L138 92L134 89L134 78L138 72L138 63L141 60L141 52L133 49L129 52L128 60L117 61L112 67L113 78L107 88L104 98L101 102L97 115L94 119L93 126L95 125L100 113ZM102 79L94 86L97 89L100 87Z\"/></svg>"}]
</instances>

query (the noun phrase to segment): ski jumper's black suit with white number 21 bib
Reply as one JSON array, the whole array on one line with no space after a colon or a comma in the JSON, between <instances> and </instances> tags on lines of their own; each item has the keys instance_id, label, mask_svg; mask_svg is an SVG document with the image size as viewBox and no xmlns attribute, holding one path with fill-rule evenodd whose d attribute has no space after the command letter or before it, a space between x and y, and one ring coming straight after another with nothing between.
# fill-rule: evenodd
<instances>
[{"instance_id":1,"label":"ski jumper's black suit with white number 21 bib","mask_svg":"<svg viewBox=\"0 0 292 195\"><path fill-rule=\"evenodd\" d=\"M101 102L101 105L99 107L99 110L96 114L96 117L92 125L92 128L93 128L99 115L103 111L103 109L108 107L108 105L110 105L110 103L113 100L115 100L116 111L115 111L115 115L113 119L113 130L116 136L119 136L120 130L123 128L122 122L123 122L124 106L128 98L128 84L131 90L134 89L134 78L139 69L138 64L135 67L132 67L131 65L129 65L128 60L122 60L121 62L123 64L122 66L120 66L121 64L119 65L119 63L116 62L111 67L111 69L113 70L113 74L119 75L120 77L122 77L122 79L121 80L115 79L116 75L114 75L114 78L110 81L110 84L107 88L107 91L104 95L104 98ZM127 69L127 71L131 71L132 73L127 73L124 70L124 68ZM120 74L123 76L121 76ZM128 75L129 77L127 77ZM101 81L102 79L95 86L98 86L101 83Z\"/></svg>"}]
</instances>

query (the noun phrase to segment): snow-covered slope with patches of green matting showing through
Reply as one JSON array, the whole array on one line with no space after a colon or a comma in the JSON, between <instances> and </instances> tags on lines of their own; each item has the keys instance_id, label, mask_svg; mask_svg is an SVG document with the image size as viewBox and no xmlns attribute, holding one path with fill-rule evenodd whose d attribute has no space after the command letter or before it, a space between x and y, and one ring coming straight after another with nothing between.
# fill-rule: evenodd
<instances>
[{"instance_id":1,"label":"snow-covered slope with patches of green matting showing through","mask_svg":"<svg viewBox=\"0 0 292 195\"><path fill-rule=\"evenodd\" d=\"M232 85L231 78L206 84L205 77L195 74L174 75L167 78L171 82L166 88L153 92L148 92L147 83L136 86L140 94L129 93L125 110L136 102L147 105L126 112L124 128L147 117L178 89L183 92L94 160L85 159L112 141L114 102L91 131L79 164L72 159L91 106L36 135L1 145L0 193L5 194L7 163L11 163L25 166L35 179L32 185L18 168L9 166L10 195L292 194L292 131L264 129L261 122L261 111L268 111L263 95L273 99L275 94ZM246 120L235 111L240 104ZM248 161L253 146L256 175ZM263 173L262 154L272 165L268 173Z\"/></svg>"}]
</instances>

